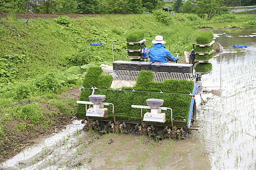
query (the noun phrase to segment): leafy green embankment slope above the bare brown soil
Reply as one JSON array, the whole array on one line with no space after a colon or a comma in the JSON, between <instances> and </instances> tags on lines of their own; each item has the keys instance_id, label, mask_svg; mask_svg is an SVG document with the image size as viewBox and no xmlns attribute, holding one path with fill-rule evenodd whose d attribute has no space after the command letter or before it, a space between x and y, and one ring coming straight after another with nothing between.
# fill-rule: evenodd
<instances>
[{"instance_id":1,"label":"leafy green embankment slope above the bare brown soil","mask_svg":"<svg viewBox=\"0 0 256 170\"><path fill-rule=\"evenodd\" d=\"M166 21L165 15L170 20ZM82 73L90 66L112 65L112 44L115 61L128 60L125 42L132 32L144 35L149 48L154 37L162 35L166 48L183 56L203 32L194 25L209 23L195 14L177 13L174 18L162 10L146 15L38 18L30 19L27 25L15 14L10 16L0 19L0 97L15 100L81 86ZM210 26L232 24L253 28L253 16L221 15L212 22L238 21L239 25L232 22ZM103 46L91 46L93 42L102 42Z\"/></svg>"}]
</instances>

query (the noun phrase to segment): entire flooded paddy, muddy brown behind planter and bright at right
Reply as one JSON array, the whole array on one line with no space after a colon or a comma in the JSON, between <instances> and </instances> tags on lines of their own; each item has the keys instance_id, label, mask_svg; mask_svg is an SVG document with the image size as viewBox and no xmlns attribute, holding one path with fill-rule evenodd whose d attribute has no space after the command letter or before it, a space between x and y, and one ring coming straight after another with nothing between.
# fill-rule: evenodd
<instances>
[{"instance_id":1,"label":"entire flooded paddy, muddy brown behind planter and bright at right","mask_svg":"<svg viewBox=\"0 0 256 170\"><path fill-rule=\"evenodd\" d=\"M201 133L154 141L137 134L100 135L82 130L81 120L74 120L61 133L0 163L0 169L256 169L255 32L213 31L224 49L212 59L212 74L203 75L202 82L223 93L202 95L205 105L196 96Z\"/></svg>"}]
</instances>

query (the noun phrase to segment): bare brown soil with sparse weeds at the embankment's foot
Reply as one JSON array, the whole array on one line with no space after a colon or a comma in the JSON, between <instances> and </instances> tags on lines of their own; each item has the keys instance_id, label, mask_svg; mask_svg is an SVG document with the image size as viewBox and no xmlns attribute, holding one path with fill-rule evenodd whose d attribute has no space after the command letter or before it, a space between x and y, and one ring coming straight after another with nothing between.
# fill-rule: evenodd
<instances>
[{"instance_id":1,"label":"bare brown soil with sparse weeds at the embankment's foot","mask_svg":"<svg viewBox=\"0 0 256 170\"><path fill-rule=\"evenodd\" d=\"M79 94L80 91L78 88L72 88L62 93L60 97L63 97L63 99L72 99L75 102L78 99ZM66 125L70 124L72 118L75 117L75 112L72 116L65 116L65 114L61 113L55 105L49 104L46 99L40 99L39 101L19 101L18 104L9 107L14 108L17 105L33 103L38 103L40 105L39 109L43 112L44 119L36 125L32 124L30 120L24 121L23 119L5 121L1 127L4 129L4 134L0 139L4 144L0 145L0 162L12 158L12 156L18 154L27 146L33 145L35 140L66 128ZM19 129L17 125L21 124L26 125L26 127L24 129Z\"/></svg>"}]
</instances>

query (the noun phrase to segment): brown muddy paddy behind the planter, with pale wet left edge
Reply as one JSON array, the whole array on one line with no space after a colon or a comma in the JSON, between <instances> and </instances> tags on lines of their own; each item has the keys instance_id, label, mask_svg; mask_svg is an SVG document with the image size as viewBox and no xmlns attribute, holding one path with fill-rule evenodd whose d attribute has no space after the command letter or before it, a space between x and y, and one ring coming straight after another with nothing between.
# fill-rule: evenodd
<instances>
[{"instance_id":1,"label":"brown muddy paddy behind the planter, with pale wet left edge","mask_svg":"<svg viewBox=\"0 0 256 170\"><path fill-rule=\"evenodd\" d=\"M198 133L183 140L155 141L138 134L100 135L82 129L56 140L40 141L45 145L27 148L2 169L210 169L208 155ZM52 141L49 142L49 141ZM45 144L44 144L45 143ZM51 143L51 145L48 145ZM47 146L48 145L48 146ZM1 168L0 168L1 169Z\"/></svg>"}]
</instances>

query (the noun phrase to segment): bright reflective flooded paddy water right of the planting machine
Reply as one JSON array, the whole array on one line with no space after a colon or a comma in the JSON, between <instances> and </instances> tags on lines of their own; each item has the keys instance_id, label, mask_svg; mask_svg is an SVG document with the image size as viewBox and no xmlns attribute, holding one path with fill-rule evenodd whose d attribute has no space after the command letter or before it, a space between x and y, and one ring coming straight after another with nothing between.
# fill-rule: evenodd
<instances>
[{"instance_id":1,"label":"bright reflective flooded paddy water right of the planting machine","mask_svg":"<svg viewBox=\"0 0 256 170\"><path fill-rule=\"evenodd\" d=\"M198 124L212 169L256 169L256 35L252 30L213 31L224 54L213 59L212 75L203 85L220 87L222 96L211 97L199 108ZM247 45L234 49L233 45ZM221 71L220 71L221 63Z\"/></svg>"}]
</instances>

